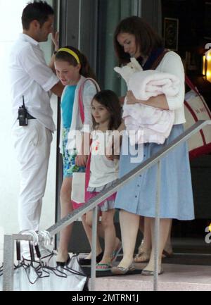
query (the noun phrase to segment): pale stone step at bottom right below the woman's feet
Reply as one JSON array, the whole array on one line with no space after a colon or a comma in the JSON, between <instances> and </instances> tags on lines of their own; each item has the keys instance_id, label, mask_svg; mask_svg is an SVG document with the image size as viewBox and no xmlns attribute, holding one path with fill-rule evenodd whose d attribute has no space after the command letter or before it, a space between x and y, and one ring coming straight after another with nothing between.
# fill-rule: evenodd
<instances>
[{"instance_id":1,"label":"pale stone step at bottom right below the woman's feet","mask_svg":"<svg viewBox=\"0 0 211 305\"><path fill-rule=\"evenodd\" d=\"M136 263L136 268L146 264ZM162 265L164 273L158 276L158 290L211 291L211 266L168 264ZM120 275L96 278L96 291L151 291L153 276Z\"/></svg>"}]
</instances>

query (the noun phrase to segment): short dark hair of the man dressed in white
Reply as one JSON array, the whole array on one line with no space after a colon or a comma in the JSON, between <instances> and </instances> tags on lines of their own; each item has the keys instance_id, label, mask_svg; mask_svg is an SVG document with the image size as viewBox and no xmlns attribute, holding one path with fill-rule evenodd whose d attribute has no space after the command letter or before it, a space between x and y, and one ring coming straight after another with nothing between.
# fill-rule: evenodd
<instances>
[{"instance_id":1,"label":"short dark hair of the man dressed in white","mask_svg":"<svg viewBox=\"0 0 211 305\"><path fill-rule=\"evenodd\" d=\"M42 26L49 15L54 15L53 8L46 1L33 1L24 8L22 15L23 30L29 30L32 20L37 20Z\"/></svg>"}]
</instances>

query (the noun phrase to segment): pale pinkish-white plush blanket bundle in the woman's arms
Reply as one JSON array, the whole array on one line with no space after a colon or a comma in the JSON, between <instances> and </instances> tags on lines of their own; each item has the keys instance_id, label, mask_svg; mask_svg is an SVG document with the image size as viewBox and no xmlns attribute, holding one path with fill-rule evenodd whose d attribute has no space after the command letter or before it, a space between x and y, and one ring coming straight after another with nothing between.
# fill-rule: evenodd
<instances>
[{"instance_id":1,"label":"pale pinkish-white plush blanket bundle in the woman's arms","mask_svg":"<svg viewBox=\"0 0 211 305\"><path fill-rule=\"evenodd\" d=\"M178 77L169 73L160 73L156 70L143 71L138 61L131 58L131 62L122 68L115 67L127 82L127 87L136 99L143 101L150 97L165 94L174 97L179 92ZM162 110L144 104L127 104L124 99L123 118L127 128L131 145L155 142L163 144L169 137L174 124L174 111ZM132 132L131 132L132 131Z\"/></svg>"}]
</instances>

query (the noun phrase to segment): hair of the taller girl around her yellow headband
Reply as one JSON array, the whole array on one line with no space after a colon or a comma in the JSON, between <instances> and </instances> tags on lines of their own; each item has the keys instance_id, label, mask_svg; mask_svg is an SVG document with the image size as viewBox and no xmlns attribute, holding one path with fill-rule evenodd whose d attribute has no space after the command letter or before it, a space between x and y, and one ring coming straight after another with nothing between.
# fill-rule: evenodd
<instances>
[{"instance_id":1,"label":"hair of the taller girl around her yellow headband","mask_svg":"<svg viewBox=\"0 0 211 305\"><path fill-rule=\"evenodd\" d=\"M82 54L78 49L74 48L73 46L65 46L65 48L70 49L77 54L80 64L82 66L82 68L79 70L79 73L81 75L83 75L84 77L91 77L94 80L96 80L96 75L94 74L94 71L89 66L89 61L87 60L87 57L84 56L84 54ZM77 61L76 61L75 57L65 51L57 52L55 60L67 61L68 63L70 63L71 66L77 66Z\"/></svg>"}]
</instances>

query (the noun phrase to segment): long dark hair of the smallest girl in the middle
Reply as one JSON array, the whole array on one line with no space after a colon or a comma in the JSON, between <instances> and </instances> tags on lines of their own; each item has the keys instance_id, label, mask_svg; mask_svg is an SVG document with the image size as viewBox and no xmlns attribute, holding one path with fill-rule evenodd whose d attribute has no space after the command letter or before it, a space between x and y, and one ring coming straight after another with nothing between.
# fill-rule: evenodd
<instances>
[{"instance_id":1,"label":"long dark hair of the smallest girl in the middle","mask_svg":"<svg viewBox=\"0 0 211 305\"><path fill-rule=\"evenodd\" d=\"M111 90L102 90L95 94L94 99L101 105L105 106L108 112L110 113L110 123L108 130L117 130L122 123L122 108L120 106L120 100L117 97L117 94ZM97 123L92 116L93 127L96 129Z\"/></svg>"}]
</instances>

